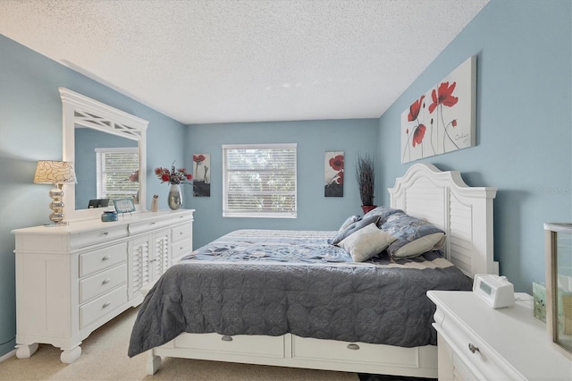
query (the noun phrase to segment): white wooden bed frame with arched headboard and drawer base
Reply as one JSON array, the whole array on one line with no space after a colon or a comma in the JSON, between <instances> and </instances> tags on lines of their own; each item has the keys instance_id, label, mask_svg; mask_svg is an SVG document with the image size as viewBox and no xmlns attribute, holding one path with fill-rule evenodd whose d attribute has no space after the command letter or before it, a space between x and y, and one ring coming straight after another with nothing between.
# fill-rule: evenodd
<instances>
[{"instance_id":1,"label":"white wooden bed frame with arched headboard and drawer base","mask_svg":"<svg viewBox=\"0 0 572 381\"><path fill-rule=\"evenodd\" d=\"M424 219L447 233L446 258L467 275L498 274L492 258L492 200L496 188L468 187L456 171L412 165L389 189L391 207ZM402 348L370 343L282 336L180 334L148 351L147 374L161 356L290 368L315 368L437 378L437 347Z\"/></svg>"}]
</instances>

